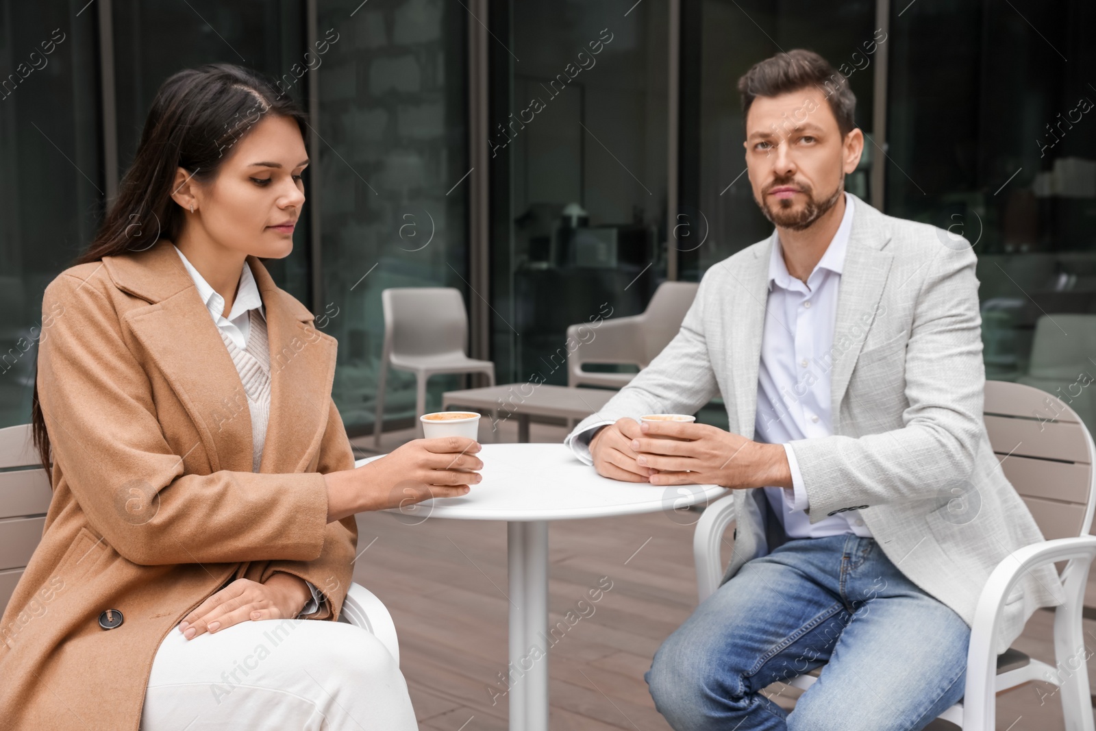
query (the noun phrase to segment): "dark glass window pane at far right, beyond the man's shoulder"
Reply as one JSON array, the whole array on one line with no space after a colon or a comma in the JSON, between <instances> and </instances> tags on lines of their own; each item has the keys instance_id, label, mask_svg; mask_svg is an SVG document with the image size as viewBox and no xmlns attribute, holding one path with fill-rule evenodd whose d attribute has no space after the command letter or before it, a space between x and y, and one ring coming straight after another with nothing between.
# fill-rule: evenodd
<instances>
[{"instance_id":1,"label":"dark glass window pane at far right, beyond the man's shoulder","mask_svg":"<svg viewBox=\"0 0 1096 731\"><path fill-rule=\"evenodd\" d=\"M891 23L887 169L887 213L974 244L986 378L1055 393L1089 429L1093 27L1077 0L910 7Z\"/></svg>"}]
</instances>

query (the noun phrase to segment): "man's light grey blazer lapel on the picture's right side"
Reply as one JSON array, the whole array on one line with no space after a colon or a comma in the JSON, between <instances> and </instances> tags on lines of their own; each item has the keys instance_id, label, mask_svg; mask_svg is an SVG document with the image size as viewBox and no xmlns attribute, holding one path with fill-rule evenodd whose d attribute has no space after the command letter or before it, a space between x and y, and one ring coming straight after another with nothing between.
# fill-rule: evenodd
<instances>
[{"instance_id":1,"label":"man's light grey blazer lapel on the picture's right side","mask_svg":"<svg viewBox=\"0 0 1096 731\"><path fill-rule=\"evenodd\" d=\"M855 205L853 230L837 289L837 316L833 334L830 393L835 434L840 433L841 401L845 397L867 333L875 323L876 309L887 284L892 260L890 252L882 250L891 236L882 216L859 198Z\"/></svg>"}]
</instances>

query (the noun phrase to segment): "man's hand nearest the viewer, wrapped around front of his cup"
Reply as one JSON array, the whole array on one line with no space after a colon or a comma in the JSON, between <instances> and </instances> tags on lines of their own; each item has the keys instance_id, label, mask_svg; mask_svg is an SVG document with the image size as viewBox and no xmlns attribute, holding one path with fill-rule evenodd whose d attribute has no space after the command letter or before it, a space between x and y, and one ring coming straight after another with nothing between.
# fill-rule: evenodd
<instances>
[{"instance_id":1,"label":"man's hand nearest the viewer, wrapped around front of his cup","mask_svg":"<svg viewBox=\"0 0 1096 731\"><path fill-rule=\"evenodd\" d=\"M752 442L708 424L643 422L639 432L628 448L637 467L653 470L651 484L792 487L783 445Z\"/></svg>"}]
</instances>

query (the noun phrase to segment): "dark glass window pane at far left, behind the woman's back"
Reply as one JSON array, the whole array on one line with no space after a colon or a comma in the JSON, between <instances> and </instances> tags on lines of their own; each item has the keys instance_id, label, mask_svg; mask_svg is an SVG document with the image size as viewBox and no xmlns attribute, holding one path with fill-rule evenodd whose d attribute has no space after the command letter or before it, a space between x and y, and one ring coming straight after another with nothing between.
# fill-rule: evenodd
<instances>
[{"instance_id":1,"label":"dark glass window pane at far left, behind the woman's back","mask_svg":"<svg viewBox=\"0 0 1096 731\"><path fill-rule=\"evenodd\" d=\"M0 4L0 427L31 421L42 293L102 215L98 69L94 9Z\"/></svg>"}]
</instances>

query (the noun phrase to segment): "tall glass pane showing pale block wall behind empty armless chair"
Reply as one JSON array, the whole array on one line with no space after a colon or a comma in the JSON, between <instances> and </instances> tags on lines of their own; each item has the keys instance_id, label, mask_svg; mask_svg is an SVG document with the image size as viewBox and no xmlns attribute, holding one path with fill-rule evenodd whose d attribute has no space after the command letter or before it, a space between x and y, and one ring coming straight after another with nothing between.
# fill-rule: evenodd
<instances>
[{"instance_id":1,"label":"tall glass pane showing pale block wall behind empty armless chair","mask_svg":"<svg viewBox=\"0 0 1096 731\"><path fill-rule=\"evenodd\" d=\"M381 290L456 287L466 309L475 296L466 284L467 15L439 0L320 9L319 35L332 37L319 72L321 312L339 339L333 392L352 433L375 419ZM427 411L457 378L431 378ZM389 370L386 421L412 425L414 402L414 376Z\"/></svg>"}]
</instances>

